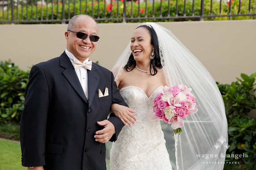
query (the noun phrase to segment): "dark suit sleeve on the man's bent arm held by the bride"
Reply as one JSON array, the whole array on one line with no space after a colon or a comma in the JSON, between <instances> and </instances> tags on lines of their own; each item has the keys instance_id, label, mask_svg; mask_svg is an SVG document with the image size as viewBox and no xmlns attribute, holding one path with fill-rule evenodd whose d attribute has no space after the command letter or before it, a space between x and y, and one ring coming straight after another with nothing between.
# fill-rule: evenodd
<instances>
[{"instance_id":1,"label":"dark suit sleeve on the man's bent arm held by the bride","mask_svg":"<svg viewBox=\"0 0 256 170\"><path fill-rule=\"evenodd\" d=\"M116 103L116 104L128 107L128 105L124 102L124 99L120 95L119 90L117 89L115 78L112 72L111 72L111 76L112 76L112 104ZM110 142L113 142L113 141L116 141L118 134L120 133L120 131L124 126L124 123L121 121L119 117L116 117L114 114L110 115L110 117L108 118L108 121L113 123L116 129L116 135L113 135L109 140Z\"/></svg>"}]
</instances>

